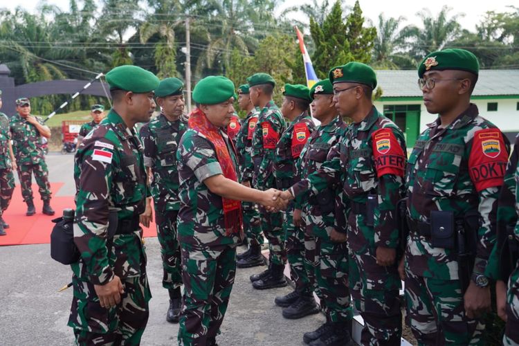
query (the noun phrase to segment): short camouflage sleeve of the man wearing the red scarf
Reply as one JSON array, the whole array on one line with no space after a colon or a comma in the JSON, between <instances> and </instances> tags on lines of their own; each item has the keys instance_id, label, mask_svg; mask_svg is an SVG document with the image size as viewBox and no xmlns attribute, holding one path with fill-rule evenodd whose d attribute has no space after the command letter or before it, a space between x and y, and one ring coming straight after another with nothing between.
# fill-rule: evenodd
<instances>
[{"instance_id":1,"label":"short camouflage sleeve of the man wearing the red scarf","mask_svg":"<svg viewBox=\"0 0 519 346\"><path fill-rule=\"evenodd\" d=\"M206 138L190 136L182 140L181 149L177 152L179 165L186 165L193 171L198 181L218 174L223 174L215 149Z\"/></svg>"}]
</instances>

